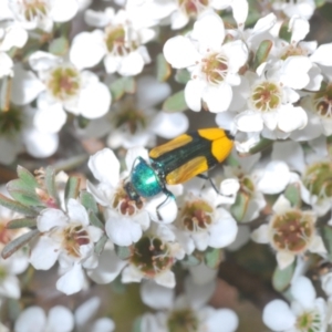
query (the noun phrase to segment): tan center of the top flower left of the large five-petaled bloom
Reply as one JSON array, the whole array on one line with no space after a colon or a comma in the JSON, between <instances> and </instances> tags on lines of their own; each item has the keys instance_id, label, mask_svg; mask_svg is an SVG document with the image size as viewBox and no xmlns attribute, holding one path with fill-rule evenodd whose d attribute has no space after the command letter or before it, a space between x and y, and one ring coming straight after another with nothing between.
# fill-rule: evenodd
<instances>
[{"instance_id":1,"label":"tan center of the top flower left of the large five-petaled bloom","mask_svg":"<svg viewBox=\"0 0 332 332\"><path fill-rule=\"evenodd\" d=\"M137 49L137 43L132 39L128 39L125 27L123 25L110 25L105 29L105 43L107 50L113 55L123 56Z\"/></svg>"}]
</instances>

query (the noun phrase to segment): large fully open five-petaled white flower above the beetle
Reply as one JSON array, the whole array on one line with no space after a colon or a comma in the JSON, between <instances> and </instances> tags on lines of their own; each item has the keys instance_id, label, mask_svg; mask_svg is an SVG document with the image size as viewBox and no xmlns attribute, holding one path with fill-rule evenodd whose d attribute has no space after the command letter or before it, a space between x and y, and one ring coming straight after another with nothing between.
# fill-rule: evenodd
<instances>
[{"instance_id":1,"label":"large fully open five-petaled white flower above the beetle","mask_svg":"<svg viewBox=\"0 0 332 332\"><path fill-rule=\"evenodd\" d=\"M225 35L220 17L208 12L195 22L188 37L174 37L164 45L172 66L187 68L191 73L185 98L193 111L200 111L201 102L214 113L228 110L232 86L241 82L238 72L247 61L248 50L240 40L222 44Z\"/></svg>"}]
</instances>

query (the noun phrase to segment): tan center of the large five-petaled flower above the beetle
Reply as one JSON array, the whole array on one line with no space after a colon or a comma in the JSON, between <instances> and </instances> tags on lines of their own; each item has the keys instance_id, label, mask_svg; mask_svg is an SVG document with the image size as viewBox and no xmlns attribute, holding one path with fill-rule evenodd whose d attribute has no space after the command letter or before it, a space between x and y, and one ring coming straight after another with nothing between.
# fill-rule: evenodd
<instances>
[{"instance_id":1,"label":"tan center of the large five-petaled flower above the beetle","mask_svg":"<svg viewBox=\"0 0 332 332\"><path fill-rule=\"evenodd\" d=\"M227 58L220 53L214 53L201 60L201 72L210 84L219 84L224 81L228 71Z\"/></svg>"}]
</instances>

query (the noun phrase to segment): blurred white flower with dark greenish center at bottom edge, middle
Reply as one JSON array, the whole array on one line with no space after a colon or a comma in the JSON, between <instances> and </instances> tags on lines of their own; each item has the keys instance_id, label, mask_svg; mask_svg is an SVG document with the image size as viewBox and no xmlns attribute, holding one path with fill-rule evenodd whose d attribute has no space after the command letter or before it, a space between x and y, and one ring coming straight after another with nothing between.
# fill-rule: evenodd
<instances>
[{"instance_id":1,"label":"blurred white flower with dark greenish center at bottom edge, middle","mask_svg":"<svg viewBox=\"0 0 332 332\"><path fill-rule=\"evenodd\" d=\"M187 279L185 294L174 299L172 290L152 282L143 283L141 289L143 302L159 311L142 317L142 331L167 332L170 329L180 331L183 326L186 326L188 331L236 331L239 321L232 310L206 305L214 290L214 282L198 286Z\"/></svg>"}]
</instances>

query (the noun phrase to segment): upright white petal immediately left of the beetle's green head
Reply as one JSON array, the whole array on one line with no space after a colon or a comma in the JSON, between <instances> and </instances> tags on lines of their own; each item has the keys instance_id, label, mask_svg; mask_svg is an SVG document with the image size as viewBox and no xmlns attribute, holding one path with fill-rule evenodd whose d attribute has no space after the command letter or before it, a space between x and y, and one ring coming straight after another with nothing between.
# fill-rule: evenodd
<instances>
[{"instance_id":1,"label":"upright white petal immediately left of the beetle's green head","mask_svg":"<svg viewBox=\"0 0 332 332\"><path fill-rule=\"evenodd\" d=\"M89 158L87 166L101 183L115 188L120 180L120 163L110 148L103 148Z\"/></svg>"}]
</instances>

